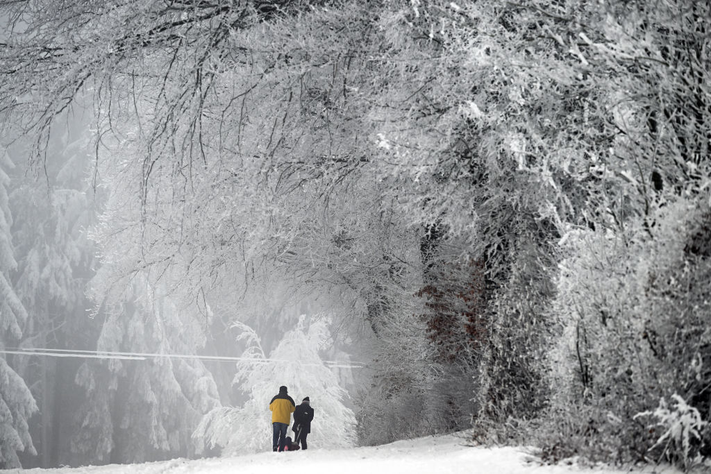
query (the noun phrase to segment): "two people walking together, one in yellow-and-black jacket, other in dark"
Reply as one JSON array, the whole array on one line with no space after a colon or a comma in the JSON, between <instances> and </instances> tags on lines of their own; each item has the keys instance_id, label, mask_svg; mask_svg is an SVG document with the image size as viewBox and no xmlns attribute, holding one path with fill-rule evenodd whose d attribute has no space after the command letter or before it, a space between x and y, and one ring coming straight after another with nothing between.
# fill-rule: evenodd
<instances>
[{"instance_id":1,"label":"two people walking together, one in yellow-and-black jacket, other in dark","mask_svg":"<svg viewBox=\"0 0 711 474\"><path fill-rule=\"evenodd\" d=\"M309 397L304 398L299 406L294 404L294 399L287 394L287 387L279 387L279 393L274 395L269 402L272 411L272 448L274 451L294 451L306 449L306 436L311 433L311 420L314 419L314 409L311 408ZM294 414L294 441L287 436L287 430Z\"/></svg>"}]
</instances>

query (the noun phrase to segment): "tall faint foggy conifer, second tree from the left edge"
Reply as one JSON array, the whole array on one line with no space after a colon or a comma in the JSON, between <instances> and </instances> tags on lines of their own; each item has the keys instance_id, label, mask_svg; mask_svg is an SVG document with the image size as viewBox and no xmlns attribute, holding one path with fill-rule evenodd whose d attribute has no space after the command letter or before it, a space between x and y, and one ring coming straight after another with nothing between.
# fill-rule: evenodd
<instances>
[{"instance_id":1,"label":"tall faint foggy conifer, second tree from the left edge","mask_svg":"<svg viewBox=\"0 0 711 474\"><path fill-rule=\"evenodd\" d=\"M43 178L22 169L11 175L12 234L18 259L13 284L30 315L19 343L26 349L85 350L98 334L98 325L87 320L85 297L95 263L95 247L86 231L101 203L88 180L92 133L82 117L67 117L65 123L67 128L51 137ZM21 156L21 141L11 150ZM26 467L68 463L68 458L62 458L68 452L68 439L51 436L68 429L63 426L67 420L53 407L69 410L72 400L81 398L72 382L79 362L28 355L16 357L14 367L31 385L40 409L31 433L41 456L23 463Z\"/></svg>"}]
</instances>

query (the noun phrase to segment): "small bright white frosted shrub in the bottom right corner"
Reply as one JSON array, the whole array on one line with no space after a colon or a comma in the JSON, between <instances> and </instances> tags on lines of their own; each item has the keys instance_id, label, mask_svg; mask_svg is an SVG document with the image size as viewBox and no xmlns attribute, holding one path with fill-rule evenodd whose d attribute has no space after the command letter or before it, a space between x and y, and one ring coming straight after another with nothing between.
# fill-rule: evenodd
<instances>
[{"instance_id":1,"label":"small bright white frosted shrub in the bottom right corner","mask_svg":"<svg viewBox=\"0 0 711 474\"><path fill-rule=\"evenodd\" d=\"M635 419L652 416L657 419L656 424L664 430L651 450L661 448L661 456L670 460L682 460L685 469L700 460L699 447L702 441L702 432L709 426L709 422L701 419L699 411L690 406L678 394L673 394L676 402L668 406L665 399L659 400L659 406L654 411L643 411L635 415Z\"/></svg>"}]
</instances>

